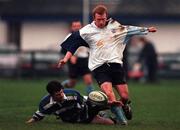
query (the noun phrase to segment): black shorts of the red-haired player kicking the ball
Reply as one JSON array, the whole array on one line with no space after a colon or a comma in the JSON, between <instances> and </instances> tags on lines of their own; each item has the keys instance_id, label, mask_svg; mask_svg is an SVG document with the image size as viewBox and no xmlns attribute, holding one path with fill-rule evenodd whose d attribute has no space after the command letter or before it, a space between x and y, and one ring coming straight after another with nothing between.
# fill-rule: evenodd
<instances>
[{"instance_id":1,"label":"black shorts of the red-haired player kicking the ball","mask_svg":"<svg viewBox=\"0 0 180 130\"><path fill-rule=\"evenodd\" d=\"M111 82L113 85L126 83L124 68L118 63L105 63L93 70L93 75L99 85L104 82Z\"/></svg>"}]
</instances>

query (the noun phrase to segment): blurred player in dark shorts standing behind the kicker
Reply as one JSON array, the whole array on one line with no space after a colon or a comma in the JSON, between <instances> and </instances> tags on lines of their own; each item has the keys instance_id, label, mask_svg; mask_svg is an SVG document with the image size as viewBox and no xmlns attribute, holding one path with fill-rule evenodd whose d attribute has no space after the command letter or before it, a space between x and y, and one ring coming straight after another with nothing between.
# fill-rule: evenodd
<instances>
[{"instance_id":1,"label":"blurred player in dark shorts standing behind the kicker","mask_svg":"<svg viewBox=\"0 0 180 130\"><path fill-rule=\"evenodd\" d=\"M82 28L80 21L73 21L71 23L71 32L78 31ZM65 50L63 50L64 52ZM65 51L66 52L66 51ZM86 84L86 93L89 94L93 90L93 80L91 72L88 68L89 49L87 47L80 47L68 62L69 79L62 84L67 88L72 88L76 85L78 76L82 76Z\"/></svg>"}]
</instances>

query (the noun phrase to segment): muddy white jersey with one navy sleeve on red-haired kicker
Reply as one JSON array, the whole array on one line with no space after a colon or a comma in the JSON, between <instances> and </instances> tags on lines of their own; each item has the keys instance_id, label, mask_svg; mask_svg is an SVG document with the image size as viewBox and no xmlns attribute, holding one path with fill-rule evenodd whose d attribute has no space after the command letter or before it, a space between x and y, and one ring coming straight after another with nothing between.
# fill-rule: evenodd
<instances>
[{"instance_id":1,"label":"muddy white jersey with one navy sleeve on red-haired kicker","mask_svg":"<svg viewBox=\"0 0 180 130\"><path fill-rule=\"evenodd\" d=\"M104 63L122 64L123 51L128 40L133 35L147 33L147 28L124 26L113 19L110 19L107 26L102 29L98 28L93 21L78 32L72 33L61 46L71 53L74 53L80 46L88 46L88 67L93 71Z\"/></svg>"}]
</instances>

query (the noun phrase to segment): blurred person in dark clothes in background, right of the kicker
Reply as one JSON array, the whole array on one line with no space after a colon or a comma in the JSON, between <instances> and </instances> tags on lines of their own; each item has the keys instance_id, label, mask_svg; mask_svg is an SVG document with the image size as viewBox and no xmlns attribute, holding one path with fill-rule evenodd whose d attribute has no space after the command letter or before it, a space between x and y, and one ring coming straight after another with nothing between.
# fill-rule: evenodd
<instances>
[{"instance_id":1,"label":"blurred person in dark clothes in background, right of the kicker","mask_svg":"<svg viewBox=\"0 0 180 130\"><path fill-rule=\"evenodd\" d=\"M157 53L156 50L146 37L139 37L139 44L142 45L138 63L142 65L144 70L145 80L155 82L157 80Z\"/></svg>"}]
</instances>

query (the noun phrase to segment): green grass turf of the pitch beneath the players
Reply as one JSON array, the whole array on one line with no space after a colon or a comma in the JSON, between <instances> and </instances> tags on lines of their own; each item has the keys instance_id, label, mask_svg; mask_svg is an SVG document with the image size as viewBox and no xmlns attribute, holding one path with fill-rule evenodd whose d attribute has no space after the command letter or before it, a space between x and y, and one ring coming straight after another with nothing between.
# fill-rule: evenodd
<instances>
[{"instance_id":1,"label":"green grass turf of the pitch beneath the players","mask_svg":"<svg viewBox=\"0 0 180 130\"><path fill-rule=\"evenodd\" d=\"M129 83L134 111L128 126L66 124L54 116L26 125L46 94L48 80L0 80L0 130L180 130L180 81ZM83 84L78 90L84 93Z\"/></svg>"}]
</instances>

